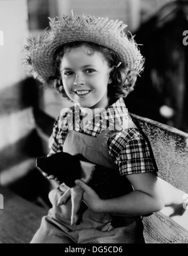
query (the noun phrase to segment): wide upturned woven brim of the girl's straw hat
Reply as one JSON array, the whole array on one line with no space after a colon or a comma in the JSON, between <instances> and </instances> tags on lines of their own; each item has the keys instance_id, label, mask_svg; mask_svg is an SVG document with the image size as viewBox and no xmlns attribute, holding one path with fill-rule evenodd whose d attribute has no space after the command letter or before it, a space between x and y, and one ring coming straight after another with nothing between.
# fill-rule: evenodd
<instances>
[{"instance_id":1,"label":"wide upturned woven brim of the girl's straw hat","mask_svg":"<svg viewBox=\"0 0 188 256\"><path fill-rule=\"evenodd\" d=\"M107 47L117 53L123 67L134 70L137 74L142 71L144 58L133 38L128 38L120 31L104 30L102 27L99 29L96 22L89 25L84 23L85 26L76 30L68 23L61 24L61 21L62 19L58 19L58 23L55 23L54 19L51 20L51 30L45 31L38 42L36 39L30 40L31 45L28 47L30 72L35 73L41 82L48 82L49 77L55 75L55 57L58 49L72 42L91 42ZM118 24L117 21L115 22Z\"/></svg>"}]
</instances>

